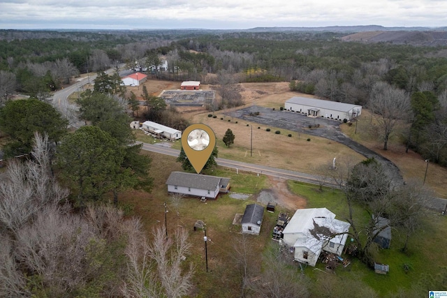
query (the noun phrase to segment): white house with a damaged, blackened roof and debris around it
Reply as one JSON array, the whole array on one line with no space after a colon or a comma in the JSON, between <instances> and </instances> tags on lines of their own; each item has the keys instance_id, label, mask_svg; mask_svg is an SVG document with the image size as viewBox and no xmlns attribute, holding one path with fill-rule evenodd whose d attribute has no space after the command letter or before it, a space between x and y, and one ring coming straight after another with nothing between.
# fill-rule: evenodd
<instances>
[{"instance_id":1,"label":"white house with a damaged, blackened roof and debris around it","mask_svg":"<svg viewBox=\"0 0 447 298\"><path fill-rule=\"evenodd\" d=\"M326 208L298 209L282 232L283 241L293 247L296 261L315 266L321 251L342 254L350 226Z\"/></svg>"}]
</instances>

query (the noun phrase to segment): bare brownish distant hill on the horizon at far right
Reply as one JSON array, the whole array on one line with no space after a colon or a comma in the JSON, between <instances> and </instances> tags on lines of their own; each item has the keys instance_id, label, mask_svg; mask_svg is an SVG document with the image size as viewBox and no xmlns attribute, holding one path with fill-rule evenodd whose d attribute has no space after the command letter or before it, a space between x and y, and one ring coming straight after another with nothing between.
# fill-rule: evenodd
<instances>
[{"instance_id":1,"label":"bare brownish distant hill on the horizon at far right","mask_svg":"<svg viewBox=\"0 0 447 298\"><path fill-rule=\"evenodd\" d=\"M362 43L393 43L395 45L447 45L447 31L369 31L340 38Z\"/></svg>"}]
</instances>

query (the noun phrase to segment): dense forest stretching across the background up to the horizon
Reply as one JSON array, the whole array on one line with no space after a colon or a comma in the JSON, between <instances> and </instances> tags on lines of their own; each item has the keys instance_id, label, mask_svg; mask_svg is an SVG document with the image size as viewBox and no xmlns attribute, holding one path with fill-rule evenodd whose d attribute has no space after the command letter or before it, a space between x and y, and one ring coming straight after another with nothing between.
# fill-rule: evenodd
<instances>
[{"instance_id":1,"label":"dense forest stretching across the background up to the horizon","mask_svg":"<svg viewBox=\"0 0 447 298\"><path fill-rule=\"evenodd\" d=\"M152 75L217 84L226 100L221 107L243 102L232 88L226 88L229 84L285 81L292 90L360 104L378 113L380 105L372 96L379 92L374 85L383 82L386 85L379 88L380 94L386 89L405 94L408 109L393 117L411 126L403 133L408 147L447 165L447 48L344 42L343 35L325 31L3 30L0 94L3 101L17 93L46 100L51 91L80 73L122 64L150 67L166 59L168 69ZM427 96L432 100L418 103L418 98ZM381 137L386 143L389 134Z\"/></svg>"}]
</instances>

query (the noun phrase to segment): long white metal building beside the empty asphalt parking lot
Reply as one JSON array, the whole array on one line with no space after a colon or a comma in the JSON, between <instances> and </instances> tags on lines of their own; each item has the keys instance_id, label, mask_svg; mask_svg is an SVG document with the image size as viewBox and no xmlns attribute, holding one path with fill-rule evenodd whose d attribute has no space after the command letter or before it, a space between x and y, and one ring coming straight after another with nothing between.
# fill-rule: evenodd
<instances>
[{"instance_id":1,"label":"long white metal building beside the empty asphalt parking lot","mask_svg":"<svg viewBox=\"0 0 447 298\"><path fill-rule=\"evenodd\" d=\"M337 103L336 101L294 96L286 101L284 109L307 117L323 117L339 121L351 120L362 114L361 105Z\"/></svg>"}]
</instances>

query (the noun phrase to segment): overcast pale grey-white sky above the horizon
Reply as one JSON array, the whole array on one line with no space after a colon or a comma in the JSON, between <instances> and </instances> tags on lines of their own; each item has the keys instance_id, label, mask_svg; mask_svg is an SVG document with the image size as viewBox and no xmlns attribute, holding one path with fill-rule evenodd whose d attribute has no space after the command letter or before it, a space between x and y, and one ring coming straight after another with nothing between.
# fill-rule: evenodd
<instances>
[{"instance_id":1,"label":"overcast pale grey-white sky above the horizon","mask_svg":"<svg viewBox=\"0 0 447 298\"><path fill-rule=\"evenodd\" d=\"M447 26L446 0L0 0L0 29Z\"/></svg>"}]
</instances>

